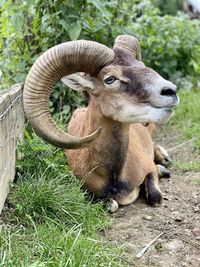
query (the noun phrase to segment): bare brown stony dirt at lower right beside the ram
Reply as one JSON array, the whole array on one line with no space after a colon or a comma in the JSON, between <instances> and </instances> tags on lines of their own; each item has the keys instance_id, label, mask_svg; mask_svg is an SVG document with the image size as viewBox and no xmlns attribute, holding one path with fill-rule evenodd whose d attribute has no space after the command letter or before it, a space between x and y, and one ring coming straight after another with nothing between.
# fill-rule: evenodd
<instances>
[{"instance_id":1,"label":"bare brown stony dirt at lower right beside the ram","mask_svg":"<svg viewBox=\"0 0 200 267\"><path fill-rule=\"evenodd\" d=\"M177 144L176 135L159 144L172 147ZM190 143L170 154L177 160L200 160ZM139 198L132 205L120 208L112 215L112 226L103 239L125 246L132 267L199 267L200 185L195 184L197 179L200 173L171 168L171 178L160 180L164 194L162 207L152 208ZM137 259L136 254L160 233L163 233L160 238Z\"/></svg>"}]
</instances>

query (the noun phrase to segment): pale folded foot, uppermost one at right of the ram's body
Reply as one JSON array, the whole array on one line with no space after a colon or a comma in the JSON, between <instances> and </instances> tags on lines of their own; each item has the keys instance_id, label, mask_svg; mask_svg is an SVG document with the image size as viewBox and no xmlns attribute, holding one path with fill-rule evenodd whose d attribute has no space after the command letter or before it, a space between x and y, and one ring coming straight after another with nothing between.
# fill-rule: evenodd
<instances>
[{"instance_id":1,"label":"pale folded foot, uppermost one at right of the ram's body","mask_svg":"<svg viewBox=\"0 0 200 267\"><path fill-rule=\"evenodd\" d=\"M154 144L154 161L156 164L168 166L171 163L171 159L166 149L158 144Z\"/></svg>"}]
</instances>

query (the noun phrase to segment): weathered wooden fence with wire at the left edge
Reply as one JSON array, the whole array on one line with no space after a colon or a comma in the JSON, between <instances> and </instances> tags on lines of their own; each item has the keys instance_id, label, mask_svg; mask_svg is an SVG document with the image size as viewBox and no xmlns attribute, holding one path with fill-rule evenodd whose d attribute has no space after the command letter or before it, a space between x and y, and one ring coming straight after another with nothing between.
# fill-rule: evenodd
<instances>
[{"instance_id":1,"label":"weathered wooden fence with wire at the left edge","mask_svg":"<svg viewBox=\"0 0 200 267\"><path fill-rule=\"evenodd\" d=\"M0 95L0 213L15 177L16 150L23 137L22 85Z\"/></svg>"}]
</instances>

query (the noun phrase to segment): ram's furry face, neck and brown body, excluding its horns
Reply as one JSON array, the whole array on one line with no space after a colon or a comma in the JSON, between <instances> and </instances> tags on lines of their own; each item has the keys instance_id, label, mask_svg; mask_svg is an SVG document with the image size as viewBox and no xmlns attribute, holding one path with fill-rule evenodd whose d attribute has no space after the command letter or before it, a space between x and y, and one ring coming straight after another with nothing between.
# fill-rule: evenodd
<instances>
[{"instance_id":1,"label":"ram's furry face, neck and brown body, excluding its horns","mask_svg":"<svg viewBox=\"0 0 200 267\"><path fill-rule=\"evenodd\" d=\"M99 127L102 132L87 148L65 153L73 173L97 196L127 205L137 199L144 184L150 205L160 205L159 169L154 160L164 149L158 146L155 152L152 140L155 124L132 122L146 123L158 121L157 116L162 118L159 108L178 102L176 87L131 54L120 49L114 51L113 62L97 76L86 77L88 82L83 81L82 74L69 78L79 83L76 90L86 91L89 96L88 107L74 112L69 134L85 137ZM111 83L107 83L110 78ZM67 80L66 84L70 86ZM171 95L163 94L168 86ZM163 112L169 117L167 110Z\"/></svg>"}]
</instances>

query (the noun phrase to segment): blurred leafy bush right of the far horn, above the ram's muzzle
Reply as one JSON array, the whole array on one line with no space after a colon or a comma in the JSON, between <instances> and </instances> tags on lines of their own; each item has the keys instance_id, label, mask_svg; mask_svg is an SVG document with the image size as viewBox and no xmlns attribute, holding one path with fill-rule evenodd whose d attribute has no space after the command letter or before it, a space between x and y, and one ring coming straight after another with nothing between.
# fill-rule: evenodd
<instances>
[{"instance_id":1,"label":"blurred leafy bush right of the far horn, above the ram's muzzle","mask_svg":"<svg viewBox=\"0 0 200 267\"><path fill-rule=\"evenodd\" d=\"M133 30L141 41L146 64L174 82L179 78L181 88L185 77L191 77L192 84L186 88L191 89L199 76L200 22L189 21L183 14L151 19L144 15L137 22Z\"/></svg>"}]
</instances>

